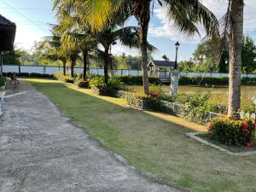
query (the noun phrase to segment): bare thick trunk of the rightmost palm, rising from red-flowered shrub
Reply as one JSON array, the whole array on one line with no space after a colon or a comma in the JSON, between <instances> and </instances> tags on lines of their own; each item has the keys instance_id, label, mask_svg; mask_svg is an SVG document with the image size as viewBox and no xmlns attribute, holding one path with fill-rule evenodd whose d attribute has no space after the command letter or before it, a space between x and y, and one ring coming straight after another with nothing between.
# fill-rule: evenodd
<instances>
[{"instance_id":1,"label":"bare thick trunk of the rightmost palm, rising from red-flowered shrub","mask_svg":"<svg viewBox=\"0 0 256 192\"><path fill-rule=\"evenodd\" d=\"M230 85L229 110L230 118L238 118L235 113L241 105L241 44L243 34L243 0L232 0L230 9Z\"/></svg>"}]
</instances>

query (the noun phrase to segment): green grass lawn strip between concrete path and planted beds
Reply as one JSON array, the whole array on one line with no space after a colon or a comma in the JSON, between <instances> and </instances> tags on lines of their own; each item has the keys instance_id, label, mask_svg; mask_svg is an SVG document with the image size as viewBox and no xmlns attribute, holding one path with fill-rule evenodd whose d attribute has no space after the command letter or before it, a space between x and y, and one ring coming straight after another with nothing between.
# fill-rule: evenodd
<instances>
[{"instance_id":1,"label":"green grass lawn strip between concrete path and planted beds","mask_svg":"<svg viewBox=\"0 0 256 192\"><path fill-rule=\"evenodd\" d=\"M185 137L205 127L177 117L129 108L122 99L93 96L90 90L55 80L28 79L62 113L106 148L143 172L167 182L208 192L255 192L256 155L234 157Z\"/></svg>"}]
</instances>

